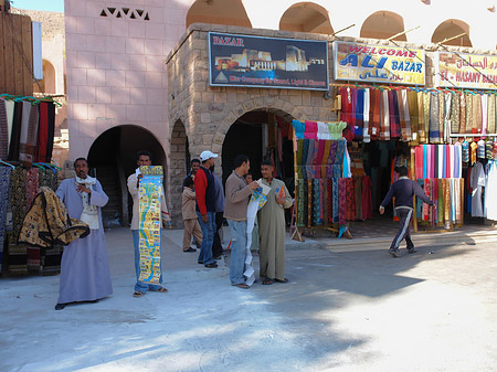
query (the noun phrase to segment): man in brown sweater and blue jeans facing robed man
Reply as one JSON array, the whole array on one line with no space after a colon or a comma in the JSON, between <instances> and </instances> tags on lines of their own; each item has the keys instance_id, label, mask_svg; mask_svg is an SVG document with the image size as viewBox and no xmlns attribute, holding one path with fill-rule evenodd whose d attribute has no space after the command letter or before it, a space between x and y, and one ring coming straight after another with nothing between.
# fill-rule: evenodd
<instances>
[{"instance_id":1,"label":"man in brown sweater and blue jeans facing robed man","mask_svg":"<svg viewBox=\"0 0 497 372\"><path fill-rule=\"evenodd\" d=\"M252 190L257 189L257 182L246 183L244 176L251 168L248 158L239 155L234 160L235 169L226 180L226 198L224 217L231 231L230 280L232 286L247 289L243 272L246 258L246 209Z\"/></svg>"}]
</instances>

